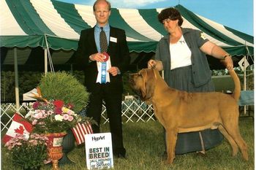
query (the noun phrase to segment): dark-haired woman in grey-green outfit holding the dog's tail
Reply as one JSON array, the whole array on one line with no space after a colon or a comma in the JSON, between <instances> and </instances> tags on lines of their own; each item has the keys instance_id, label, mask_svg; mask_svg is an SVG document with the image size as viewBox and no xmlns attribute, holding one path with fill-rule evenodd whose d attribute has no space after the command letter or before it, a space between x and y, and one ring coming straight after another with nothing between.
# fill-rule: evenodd
<instances>
[{"instance_id":1,"label":"dark-haired woman in grey-green outfit holding the dog's tail","mask_svg":"<svg viewBox=\"0 0 256 170\"><path fill-rule=\"evenodd\" d=\"M227 69L233 69L231 56L221 47L210 42L203 32L182 28L183 19L177 9L163 9L158 15L168 34L157 45L155 60L148 61L148 68L164 70L167 85L187 92L214 91L207 55L224 61ZM207 112L206 112L207 117ZM202 152L222 142L219 130L178 134L176 154Z\"/></svg>"}]
</instances>

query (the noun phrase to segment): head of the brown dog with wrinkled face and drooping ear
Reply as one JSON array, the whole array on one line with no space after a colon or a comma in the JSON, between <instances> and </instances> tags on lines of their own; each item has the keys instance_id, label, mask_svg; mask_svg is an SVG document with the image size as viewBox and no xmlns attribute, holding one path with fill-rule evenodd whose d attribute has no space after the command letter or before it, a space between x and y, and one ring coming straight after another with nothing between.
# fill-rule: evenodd
<instances>
[{"instance_id":1,"label":"head of the brown dog with wrinkled face and drooping ear","mask_svg":"<svg viewBox=\"0 0 256 170\"><path fill-rule=\"evenodd\" d=\"M142 69L138 73L129 74L129 83L142 101L148 101L154 96L156 72L156 69Z\"/></svg>"}]
</instances>

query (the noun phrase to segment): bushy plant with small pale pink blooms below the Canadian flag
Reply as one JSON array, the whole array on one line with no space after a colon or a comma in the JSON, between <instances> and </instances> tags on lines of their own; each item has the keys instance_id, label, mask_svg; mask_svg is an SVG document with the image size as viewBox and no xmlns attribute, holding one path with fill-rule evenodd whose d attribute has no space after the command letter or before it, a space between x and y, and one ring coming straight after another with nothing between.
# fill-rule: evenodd
<instances>
[{"instance_id":1,"label":"bushy plant with small pale pink blooms below the Canadian flag","mask_svg":"<svg viewBox=\"0 0 256 170\"><path fill-rule=\"evenodd\" d=\"M11 151L14 166L39 169L48 159L47 140L44 134L31 134L29 139L25 139L23 134L17 134L4 146Z\"/></svg>"}]
</instances>

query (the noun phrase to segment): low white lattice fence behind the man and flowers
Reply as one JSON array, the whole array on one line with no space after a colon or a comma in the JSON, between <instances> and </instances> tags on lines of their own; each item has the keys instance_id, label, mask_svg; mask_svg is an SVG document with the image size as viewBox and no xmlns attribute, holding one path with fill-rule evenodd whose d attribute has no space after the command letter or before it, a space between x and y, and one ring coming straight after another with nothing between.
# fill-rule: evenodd
<instances>
[{"instance_id":1,"label":"low white lattice fence behind the man and flowers","mask_svg":"<svg viewBox=\"0 0 256 170\"><path fill-rule=\"evenodd\" d=\"M8 129L10 123L12 123L13 113L17 112L21 116L26 115L31 111L32 102L24 102L20 104L20 107L16 109L15 103L1 103L1 131ZM145 102L139 99L128 99L122 101L122 122L148 122L154 120L154 109L151 105L147 105ZM108 115L105 105L102 105L102 123L108 123Z\"/></svg>"}]
</instances>

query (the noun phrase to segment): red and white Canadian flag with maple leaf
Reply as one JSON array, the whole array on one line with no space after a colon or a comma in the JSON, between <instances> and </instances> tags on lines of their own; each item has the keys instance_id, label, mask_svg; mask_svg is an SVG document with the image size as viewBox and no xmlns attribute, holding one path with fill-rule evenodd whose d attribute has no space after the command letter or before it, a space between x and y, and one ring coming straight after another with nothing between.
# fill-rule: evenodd
<instances>
[{"instance_id":1,"label":"red and white Canadian flag with maple leaf","mask_svg":"<svg viewBox=\"0 0 256 170\"><path fill-rule=\"evenodd\" d=\"M10 128L7 131L7 134L3 137L4 144L7 143L10 139L16 136L16 134L23 134L25 139L29 139L29 134L32 131L32 125L24 120L23 117L15 113Z\"/></svg>"}]
</instances>

